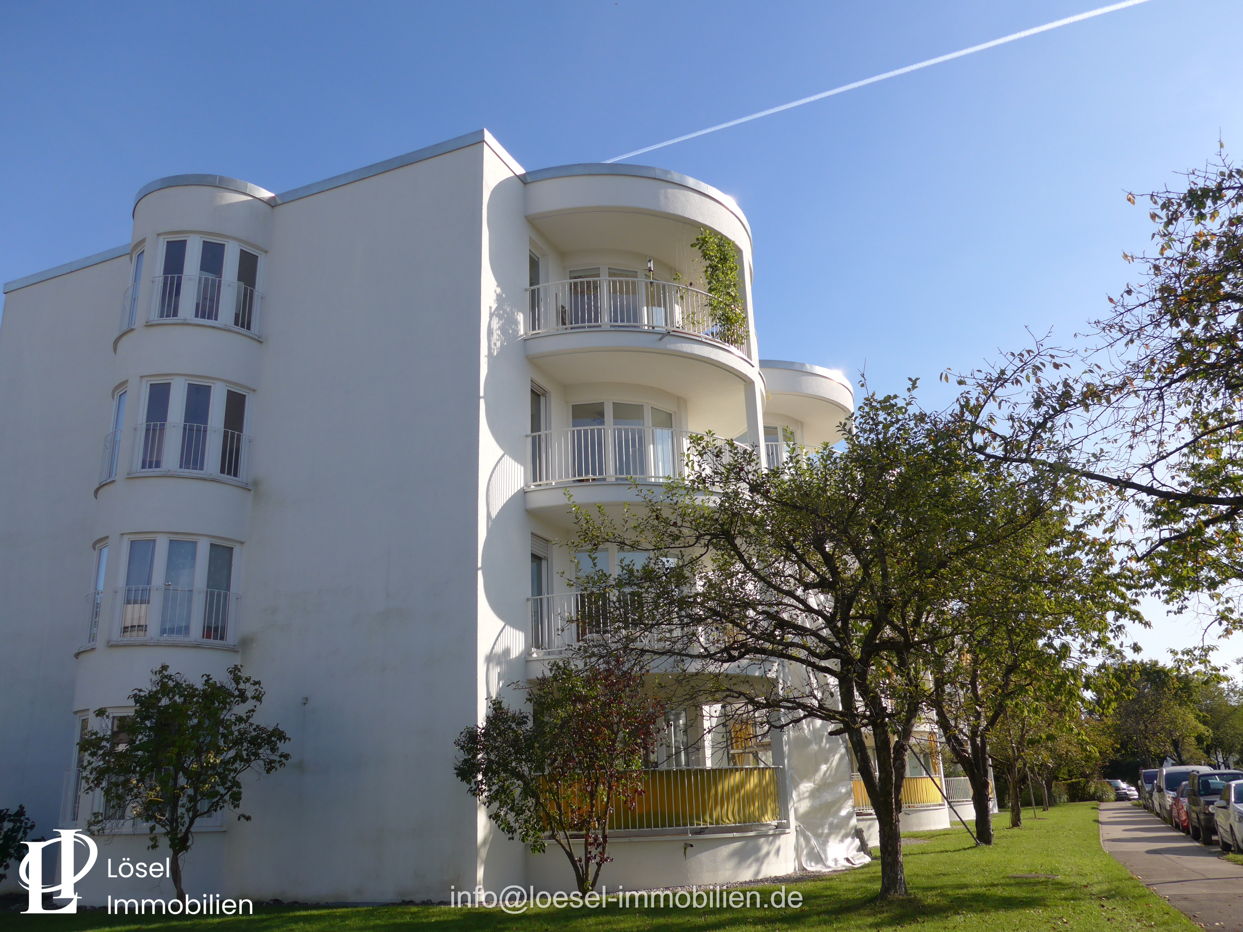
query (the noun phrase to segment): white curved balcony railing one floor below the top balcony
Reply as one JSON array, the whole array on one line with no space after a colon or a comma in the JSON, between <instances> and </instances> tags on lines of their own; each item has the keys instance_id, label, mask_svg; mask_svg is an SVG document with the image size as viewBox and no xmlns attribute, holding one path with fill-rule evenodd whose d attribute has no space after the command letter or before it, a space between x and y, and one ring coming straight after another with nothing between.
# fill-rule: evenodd
<instances>
[{"instance_id":1,"label":"white curved balcony railing one floor below the top balcony","mask_svg":"<svg viewBox=\"0 0 1243 932\"><path fill-rule=\"evenodd\" d=\"M531 487L593 480L664 482L684 473L692 435L669 427L564 427L527 436Z\"/></svg>"}]
</instances>

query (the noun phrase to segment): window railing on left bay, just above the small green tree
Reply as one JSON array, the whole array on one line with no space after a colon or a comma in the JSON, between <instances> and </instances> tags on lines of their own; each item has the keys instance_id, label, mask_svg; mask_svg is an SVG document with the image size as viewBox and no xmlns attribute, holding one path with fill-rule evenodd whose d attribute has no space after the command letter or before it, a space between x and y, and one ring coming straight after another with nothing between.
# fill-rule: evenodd
<instances>
[{"instance_id":1,"label":"window railing on left bay, just above the small green tree","mask_svg":"<svg viewBox=\"0 0 1243 932\"><path fill-rule=\"evenodd\" d=\"M174 585L126 585L114 590L118 640L235 644L239 593Z\"/></svg>"}]
</instances>

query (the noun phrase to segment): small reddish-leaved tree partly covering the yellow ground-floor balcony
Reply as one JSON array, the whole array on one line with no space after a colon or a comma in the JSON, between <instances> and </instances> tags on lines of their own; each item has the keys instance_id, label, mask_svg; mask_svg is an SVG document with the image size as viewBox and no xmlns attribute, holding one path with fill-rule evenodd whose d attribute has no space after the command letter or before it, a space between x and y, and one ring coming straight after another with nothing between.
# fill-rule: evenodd
<instances>
[{"instance_id":1,"label":"small reddish-leaved tree partly covering the yellow ground-floor balcony","mask_svg":"<svg viewBox=\"0 0 1243 932\"><path fill-rule=\"evenodd\" d=\"M525 691L530 716L493 697L484 724L462 731L454 773L510 839L538 854L551 834L587 893L613 860L609 818L635 804L664 711L643 670L622 659L585 669L558 660Z\"/></svg>"}]
</instances>

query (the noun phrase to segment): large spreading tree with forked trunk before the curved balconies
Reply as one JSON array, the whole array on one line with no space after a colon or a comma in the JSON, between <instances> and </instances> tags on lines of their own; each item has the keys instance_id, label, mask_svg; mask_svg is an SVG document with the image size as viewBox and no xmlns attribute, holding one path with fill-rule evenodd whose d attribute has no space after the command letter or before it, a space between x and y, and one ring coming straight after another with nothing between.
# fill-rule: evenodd
<instances>
[{"instance_id":1,"label":"large spreading tree with forked trunk before the curved balconies","mask_svg":"<svg viewBox=\"0 0 1243 932\"><path fill-rule=\"evenodd\" d=\"M845 736L879 823L884 897L906 895L901 788L946 606L1050 507L1040 482L1002 481L914 390L869 394L840 452L774 468L694 439L685 475L640 490L641 507L576 508L572 543L654 555L585 580L618 603L610 637L776 727L814 718ZM626 610L636 599L644 610Z\"/></svg>"}]
</instances>

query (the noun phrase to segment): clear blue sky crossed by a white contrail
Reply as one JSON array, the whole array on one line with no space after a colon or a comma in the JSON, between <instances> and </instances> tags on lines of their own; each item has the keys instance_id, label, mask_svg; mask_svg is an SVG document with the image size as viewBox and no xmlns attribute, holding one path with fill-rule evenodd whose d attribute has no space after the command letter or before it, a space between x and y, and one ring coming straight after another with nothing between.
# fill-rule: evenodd
<instances>
[{"instance_id":1,"label":"clear blue sky crossed by a white contrail","mask_svg":"<svg viewBox=\"0 0 1243 932\"><path fill-rule=\"evenodd\" d=\"M126 242L163 175L280 191L479 127L599 162L1101 2L7 0L0 281ZM938 404L946 367L1103 312L1149 235L1126 190L1243 158L1239 47L1237 0L1152 0L635 162L747 212L762 355Z\"/></svg>"}]
</instances>

